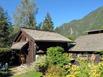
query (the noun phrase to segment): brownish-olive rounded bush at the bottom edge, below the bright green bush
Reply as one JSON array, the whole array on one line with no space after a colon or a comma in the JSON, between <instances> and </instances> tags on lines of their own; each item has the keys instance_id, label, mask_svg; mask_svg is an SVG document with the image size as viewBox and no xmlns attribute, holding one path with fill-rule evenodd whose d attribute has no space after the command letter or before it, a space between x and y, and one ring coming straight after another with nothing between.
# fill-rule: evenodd
<instances>
[{"instance_id":1,"label":"brownish-olive rounded bush at the bottom edge, below the bright green bush","mask_svg":"<svg viewBox=\"0 0 103 77\"><path fill-rule=\"evenodd\" d=\"M64 70L59 66L50 66L44 77L65 77Z\"/></svg>"}]
</instances>

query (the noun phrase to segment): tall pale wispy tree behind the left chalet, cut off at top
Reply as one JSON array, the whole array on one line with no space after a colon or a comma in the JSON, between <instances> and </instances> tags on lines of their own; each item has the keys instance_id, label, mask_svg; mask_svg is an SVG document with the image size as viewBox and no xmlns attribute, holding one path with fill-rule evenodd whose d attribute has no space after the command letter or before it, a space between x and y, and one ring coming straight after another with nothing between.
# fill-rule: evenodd
<instances>
[{"instance_id":1,"label":"tall pale wispy tree behind the left chalet, cut off at top","mask_svg":"<svg viewBox=\"0 0 103 77\"><path fill-rule=\"evenodd\" d=\"M34 3L35 0L21 0L20 5L17 6L14 13L14 21L16 26L36 28L35 15L37 8Z\"/></svg>"}]
</instances>

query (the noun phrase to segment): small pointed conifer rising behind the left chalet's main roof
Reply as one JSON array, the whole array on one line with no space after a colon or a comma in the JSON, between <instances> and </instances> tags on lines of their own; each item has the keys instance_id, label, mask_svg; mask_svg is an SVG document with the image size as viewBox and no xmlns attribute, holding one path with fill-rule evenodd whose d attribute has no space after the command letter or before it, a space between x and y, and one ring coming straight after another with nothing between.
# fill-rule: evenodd
<instances>
[{"instance_id":1,"label":"small pointed conifer rising behind the left chalet's main roof","mask_svg":"<svg viewBox=\"0 0 103 77\"><path fill-rule=\"evenodd\" d=\"M53 27L53 22L52 22L51 16L49 13L47 13L47 15L43 21L43 24L42 24L42 30L53 31L53 29L54 29L54 27Z\"/></svg>"}]
</instances>

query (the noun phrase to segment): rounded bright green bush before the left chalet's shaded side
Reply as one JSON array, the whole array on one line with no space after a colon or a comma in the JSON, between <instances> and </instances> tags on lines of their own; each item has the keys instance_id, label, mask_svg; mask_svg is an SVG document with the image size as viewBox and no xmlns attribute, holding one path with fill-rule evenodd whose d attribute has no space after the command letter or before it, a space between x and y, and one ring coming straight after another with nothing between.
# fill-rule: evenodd
<instances>
[{"instance_id":1,"label":"rounded bright green bush before the left chalet's shaded side","mask_svg":"<svg viewBox=\"0 0 103 77\"><path fill-rule=\"evenodd\" d=\"M65 56L64 56L65 55ZM67 55L64 54L64 49L61 47L50 47L47 50L47 62L49 65L63 66L69 63Z\"/></svg>"}]
</instances>

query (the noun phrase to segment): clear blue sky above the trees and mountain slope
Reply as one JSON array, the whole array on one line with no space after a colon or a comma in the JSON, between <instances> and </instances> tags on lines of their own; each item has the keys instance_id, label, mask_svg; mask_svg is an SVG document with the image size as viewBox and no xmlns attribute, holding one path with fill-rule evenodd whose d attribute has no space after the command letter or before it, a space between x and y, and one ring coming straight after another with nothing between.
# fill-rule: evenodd
<instances>
[{"instance_id":1,"label":"clear blue sky above the trees and mountain slope","mask_svg":"<svg viewBox=\"0 0 103 77\"><path fill-rule=\"evenodd\" d=\"M11 22L13 22L13 14L19 3L20 0L0 0L0 6L7 11ZM42 22L46 13L49 12L55 27L81 19L91 11L103 6L103 0L36 0L35 3L38 8L37 23Z\"/></svg>"}]
</instances>

